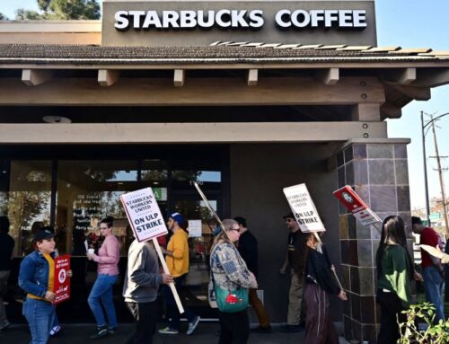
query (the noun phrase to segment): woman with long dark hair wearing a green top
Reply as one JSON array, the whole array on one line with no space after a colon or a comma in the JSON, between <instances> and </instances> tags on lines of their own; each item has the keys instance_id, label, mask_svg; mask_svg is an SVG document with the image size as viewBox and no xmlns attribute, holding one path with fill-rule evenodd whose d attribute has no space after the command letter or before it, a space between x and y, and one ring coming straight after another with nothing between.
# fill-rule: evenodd
<instances>
[{"instance_id":1,"label":"woman with long dark hair wearing a green top","mask_svg":"<svg viewBox=\"0 0 449 344\"><path fill-rule=\"evenodd\" d=\"M400 338L401 313L411 302L411 280L415 269L407 249L404 221L400 216L388 216L383 221L381 242L375 255L377 267L377 302L381 305L381 330L378 344L396 343Z\"/></svg>"}]
</instances>

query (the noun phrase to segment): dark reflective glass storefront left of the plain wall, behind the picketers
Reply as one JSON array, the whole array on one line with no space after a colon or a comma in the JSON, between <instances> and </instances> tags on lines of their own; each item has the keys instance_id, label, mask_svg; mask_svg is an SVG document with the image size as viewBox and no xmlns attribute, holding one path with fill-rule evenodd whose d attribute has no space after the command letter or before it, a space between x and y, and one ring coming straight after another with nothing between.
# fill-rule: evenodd
<instances>
[{"instance_id":1,"label":"dark reflective glass storefront left of the plain wall, behind the picketers","mask_svg":"<svg viewBox=\"0 0 449 344\"><path fill-rule=\"evenodd\" d=\"M93 157L101 156L101 150L96 147L89 154L84 152L88 159L26 160L11 157L0 160L0 215L9 216L11 221L10 234L16 243L15 276L22 257L32 251L33 228L38 225L53 225L57 232L57 251L72 256L72 299L58 307L58 315L63 322L67 319L92 321L86 300L96 278L97 265L87 260L86 247L98 249L101 246L99 225L101 218L106 216L114 217L113 234L120 242L120 278L113 291L118 301L118 316L121 321L129 320L122 303L121 282L127 267L128 247L134 238L119 197L146 187L153 189L165 220L175 211L182 213L187 220L196 220L196 231L189 234L187 294L181 298L201 316L216 317L207 304L208 259L216 222L199 197L193 181L201 185L212 206L221 213L224 208L222 159L226 154L217 147L191 150L171 146L153 149L150 155L154 158L142 158L147 154L145 148L137 148L139 157L133 156L128 160L122 160L127 155L123 152L117 159L109 153L106 158L94 160ZM62 149L58 152L56 157L64 156ZM209 159L209 156L214 156L214 159ZM165 243L168 240L170 234Z\"/></svg>"}]
</instances>

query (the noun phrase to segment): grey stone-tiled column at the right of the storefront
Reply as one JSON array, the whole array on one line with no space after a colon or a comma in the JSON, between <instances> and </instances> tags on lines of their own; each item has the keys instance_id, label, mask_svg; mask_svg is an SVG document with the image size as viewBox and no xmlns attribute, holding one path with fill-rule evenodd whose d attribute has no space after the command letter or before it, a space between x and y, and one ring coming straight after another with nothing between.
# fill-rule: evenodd
<instances>
[{"instance_id":1,"label":"grey stone-tiled column at the right of the storefront","mask_svg":"<svg viewBox=\"0 0 449 344\"><path fill-rule=\"evenodd\" d=\"M339 187L350 185L382 219L400 215L411 228L407 144L409 140L351 141L337 154ZM380 225L362 226L339 207L342 285L348 292L343 322L347 340L375 343L380 309L375 303L375 252ZM411 234L408 233L409 247Z\"/></svg>"}]
</instances>

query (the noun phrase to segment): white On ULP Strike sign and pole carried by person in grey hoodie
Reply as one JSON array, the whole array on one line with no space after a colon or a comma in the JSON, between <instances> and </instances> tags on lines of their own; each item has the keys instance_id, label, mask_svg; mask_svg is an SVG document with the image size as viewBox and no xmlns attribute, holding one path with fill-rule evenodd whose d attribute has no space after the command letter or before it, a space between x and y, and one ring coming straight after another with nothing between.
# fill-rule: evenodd
<instances>
[{"instance_id":1,"label":"white On ULP Strike sign and pole carried by person in grey hoodie","mask_svg":"<svg viewBox=\"0 0 449 344\"><path fill-rule=\"evenodd\" d=\"M163 251L161 251L161 247L156 239L158 236L167 234L168 230L163 221L163 216L157 205L153 190L151 188L145 188L128 192L121 195L120 200L127 213L128 221L134 232L136 241L141 243L152 240L159 260L161 260L163 265L163 272L169 274L170 271L163 258ZM184 308L180 303L180 296L176 291L176 287L174 287L174 283L170 283L170 288L172 289L173 297L180 313L184 313Z\"/></svg>"}]
</instances>

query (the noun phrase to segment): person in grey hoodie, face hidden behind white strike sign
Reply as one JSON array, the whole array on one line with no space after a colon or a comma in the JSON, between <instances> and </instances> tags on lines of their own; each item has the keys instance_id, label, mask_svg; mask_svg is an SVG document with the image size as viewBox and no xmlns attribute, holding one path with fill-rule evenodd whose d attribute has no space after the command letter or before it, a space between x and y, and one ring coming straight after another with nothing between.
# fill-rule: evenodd
<instances>
[{"instance_id":1,"label":"person in grey hoodie, face hidden behind white strike sign","mask_svg":"<svg viewBox=\"0 0 449 344\"><path fill-rule=\"evenodd\" d=\"M135 240L129 246L123 296L136 321L135 344L152 344L157 321L157 289L173 278L159 273L154 244Z\"/></svg>"}]
</instances>

